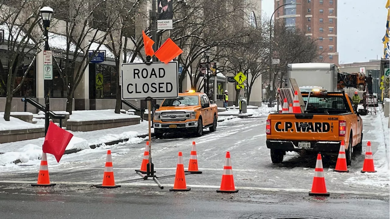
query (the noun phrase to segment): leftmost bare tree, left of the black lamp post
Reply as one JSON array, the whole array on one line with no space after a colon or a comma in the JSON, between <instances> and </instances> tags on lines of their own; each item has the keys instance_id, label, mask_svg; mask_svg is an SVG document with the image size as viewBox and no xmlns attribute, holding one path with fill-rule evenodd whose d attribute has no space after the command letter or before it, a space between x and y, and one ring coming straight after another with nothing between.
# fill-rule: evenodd
<instances>
[{"instance_id":1,"label":"leftmost bare tree, left of the black lamp post","mask_svg":"<svg viewBox=\"0 0 390 219\"><path fill-rule=\"evenodd\" d=\"M30 1L0 5L0 25L5 35L2 47L7 50L0 54L0 87L5 87L7 95L6 121L9 121L13 95L20 90L40 51L43 39L32 37L40 19L40 9L40 4ZM18 74L20 69L23 69L23 74Z\"/></svg>"}]
</instances>

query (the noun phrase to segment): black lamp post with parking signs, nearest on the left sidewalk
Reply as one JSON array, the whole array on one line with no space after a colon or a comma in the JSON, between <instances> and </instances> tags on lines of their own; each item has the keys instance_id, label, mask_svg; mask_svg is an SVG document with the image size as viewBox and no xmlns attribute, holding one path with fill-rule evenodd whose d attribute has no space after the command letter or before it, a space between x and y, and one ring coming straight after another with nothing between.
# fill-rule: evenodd
<instances>
[{"instance_id":1,"label":"black lamp post with parking signs, nearest on the left sidewalk","mask_svg":"<svg viewBox=\"0 0 390 219\"><path fill-rule=\"evenodd\" d=\"M44 35L45 35L45 53L46 51L49 51L50 48L49 48L49 42L48 42L48 34L49 34L49 27L50 27L50 20L51 20L51 16L53 15L53 9L51 7L43 7L41 10L41 15L42 15L42 21L43 21L43 28L44 28ZM51 53L49 53L51 54ZM50 57L50 62L51 62L51 57ZM45 63L45 61L44 61ZM44 67L45 68L45 67ZM51 66L52 68L52 66ZM51 70L51 72L53 72ZM53 79L51 77L51 79ZM44 93L45 93L45 135L48 131L48 128L49 128L49 110L50 110L50 107L49 107L49 79L46 79L44 78Z\"/></svg>"}]
</instances>

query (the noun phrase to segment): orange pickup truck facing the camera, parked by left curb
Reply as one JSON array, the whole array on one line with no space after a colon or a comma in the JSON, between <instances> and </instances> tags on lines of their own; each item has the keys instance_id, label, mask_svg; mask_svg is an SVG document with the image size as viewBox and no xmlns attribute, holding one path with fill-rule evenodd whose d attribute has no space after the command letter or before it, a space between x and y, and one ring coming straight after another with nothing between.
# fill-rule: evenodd
<instances>
[{"instance_id":1,"label":"orange pickup truck facing the camera, parked by left curb","mask_svg":"<svg viewBox=\"0 0 390 219\"><path fill-rule=\"evenodd\" d=\"M204 93L189 91L179 97L165 99L161 106L156 106L153 127L154 136L160 138L169 132L192 132L202 136L203 129L216 131L218 108L211 104Z\"/></svg>"}]
</instances>

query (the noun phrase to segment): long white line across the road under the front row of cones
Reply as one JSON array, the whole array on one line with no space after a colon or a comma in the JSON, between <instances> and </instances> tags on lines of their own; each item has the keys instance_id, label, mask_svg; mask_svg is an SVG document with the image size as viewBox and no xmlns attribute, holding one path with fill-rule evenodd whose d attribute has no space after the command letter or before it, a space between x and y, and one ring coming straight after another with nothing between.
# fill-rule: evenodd
<instances>
[{"instance_id":1,"label":"long white line across the road under the front row of cones","mask_svg":"<svg viewBox=\"0 0 390 219\"><path fill-rule=\"evenodd\" d=\"M10 184L33 184L35 181L12 181L12 180L1 180L0 183L10 183ZM99 184L99 182L51 182L56 184L66 184L66 185L91 185ZM142 182L127 182L120 183L120 185L135 185L135 186L158 186L154 183L142 183ZM173 187L173 184L161 184L166 187ZM219 189L219 185L192 185L187 184L188 187L193 188L207 188L207 189ZM265 187L246 187L246 186L236 186L236 189L243 190L252 190L252 191L271 191L271 192L290 192L290 193L308 193L308 189L283 189L283 188L265 188ZM359 191L328 191L335 194L355 194L355 195L369 195L369 196L388 196L389 194L379 194L379 193L369 193L369 192L359 192Z\"/></svg>"}]
</instances>

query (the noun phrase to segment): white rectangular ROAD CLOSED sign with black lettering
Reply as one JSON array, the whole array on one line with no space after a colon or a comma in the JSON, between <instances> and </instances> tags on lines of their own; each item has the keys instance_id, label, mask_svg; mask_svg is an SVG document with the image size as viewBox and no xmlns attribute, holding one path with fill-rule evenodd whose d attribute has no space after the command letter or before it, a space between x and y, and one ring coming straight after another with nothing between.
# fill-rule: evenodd
<instances>
[{"instance_id":1,"label":"white rectangular ROAD CLOSED sign with black lettering","mask_svg":"<svg viewBox=\"0 0 390 219\"><path fill-rule=\"evenodd\" d=\"M177 62L122 64L122 99L178 97L178 68Z\"/></svg>"}]
</instances>

